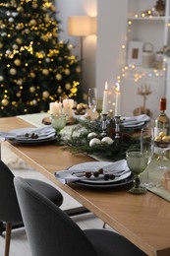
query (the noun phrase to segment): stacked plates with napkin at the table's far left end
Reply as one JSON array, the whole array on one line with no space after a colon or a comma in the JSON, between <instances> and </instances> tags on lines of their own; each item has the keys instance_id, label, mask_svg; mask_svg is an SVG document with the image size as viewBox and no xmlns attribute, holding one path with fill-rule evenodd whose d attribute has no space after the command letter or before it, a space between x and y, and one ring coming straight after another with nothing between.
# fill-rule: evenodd
<instances>
[{"instance_id":1,"label":"stacked plates with napkin at the table's far left end","mask_svg":"<svg viewBox=\"0 0 170 256\"><path fill-rule=\"evenodd\" d=\"M40 144L56 139L56 132L52 126L42 128L22 128L10 132L0 132L2 140L9 140L21 144Z\"/></svg>"}]
</instances>

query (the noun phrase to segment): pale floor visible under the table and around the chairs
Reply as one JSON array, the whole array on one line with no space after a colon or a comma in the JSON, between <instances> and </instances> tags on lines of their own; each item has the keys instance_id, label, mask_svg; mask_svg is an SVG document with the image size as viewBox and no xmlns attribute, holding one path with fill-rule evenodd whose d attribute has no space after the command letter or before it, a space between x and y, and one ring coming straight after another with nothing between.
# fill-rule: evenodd
<instances>
[{"instance_id":1,"label":"pale floor visible under the table and around the chairs","mask_svg":"<svg viewBox=\"0 0 170 256\"><path fill-rule=\"evenodd\" d=\"M44 176L42 176L40 173L32 170L32 169L16 169L13 170L15 175L22 176L22 177L31 177L31 178L37 178L40 180L44 180L46 182L49 182ZM53 183L51 183L54 185ZM54 185L55 186L55 185ZM58 188L59 189L59 188ZM68 196L64 191L59 189L63 196L64 196L64 203L62 205L62 209L70 209L77 206L80 206L80 204L72 199L70 196ZM73 220L79 224L83 229L85 228L101 228L103 222L97 218L95 218L92 214L85 214L79 217L74 217ZM110 229L109 226L107 228ZM0 236L0 256L4 255L4 236ZM11 248L10 248L10 256L31 256L29 245L28 245L28 239L26 235L25 228L20 228L13 230L12 232L12 240L11 240Z\"/></svg>"}]
</instances>

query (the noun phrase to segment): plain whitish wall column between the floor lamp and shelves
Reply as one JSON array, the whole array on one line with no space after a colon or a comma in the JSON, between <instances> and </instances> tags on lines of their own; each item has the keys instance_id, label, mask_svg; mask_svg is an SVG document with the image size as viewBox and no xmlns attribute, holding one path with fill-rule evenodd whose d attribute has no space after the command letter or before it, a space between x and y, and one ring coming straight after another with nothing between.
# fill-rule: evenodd
<instances>
[{"instance_id":1,"label":"plain whitish wall column between the floor lamp and shelves","mask_svg":"<svg viewBox=\"0 0 170 256\"><path fill-rule=\"evenodd\" d=\"M127 0L98 0L98 33L96 49L96 85L102 97L105 81L115 85L125 65Z\"/></svg>"}]
</instances>

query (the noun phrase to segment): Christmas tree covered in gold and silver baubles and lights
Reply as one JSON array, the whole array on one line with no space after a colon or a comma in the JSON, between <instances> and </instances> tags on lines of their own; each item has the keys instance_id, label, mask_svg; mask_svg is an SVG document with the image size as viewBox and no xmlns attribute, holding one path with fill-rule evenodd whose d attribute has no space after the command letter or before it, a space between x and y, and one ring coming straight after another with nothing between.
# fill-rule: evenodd
<instances>
[{"instance_id":1,"label":"Christmas tree covered in gold and silver baubles and lights","mask_svg":"<svg viewBox=\"0 0 170 256\"><path fill-rule=\"evenodd\" d=\"M81 98L81 68L69 41L59 40L49 0L0 2L0 116L49 109L62 97Z\"/></svg>"}]
</instances>

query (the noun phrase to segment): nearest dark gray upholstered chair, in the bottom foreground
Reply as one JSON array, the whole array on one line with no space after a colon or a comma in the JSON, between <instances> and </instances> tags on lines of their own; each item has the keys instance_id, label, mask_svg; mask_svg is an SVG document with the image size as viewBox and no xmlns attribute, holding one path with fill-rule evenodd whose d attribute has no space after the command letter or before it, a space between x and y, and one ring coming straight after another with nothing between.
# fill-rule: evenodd
<instances>
[{"instance_id":1,"label":"nearest dark gray upholstered chair, in the bottom foreground","mask_svg":"<svg viewBox=\"0 0 170 256\"><path fill-rule=\"evenodd\" d=\"M32 256L143 256L122 235L106 229L82 230L44 195L15 177L15 188Z\"/></svg>"}]
</instances>

